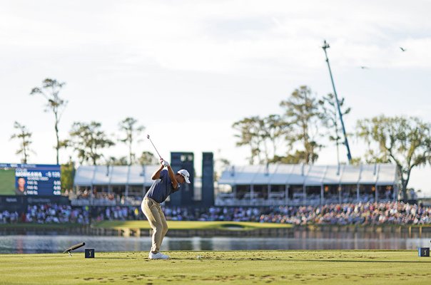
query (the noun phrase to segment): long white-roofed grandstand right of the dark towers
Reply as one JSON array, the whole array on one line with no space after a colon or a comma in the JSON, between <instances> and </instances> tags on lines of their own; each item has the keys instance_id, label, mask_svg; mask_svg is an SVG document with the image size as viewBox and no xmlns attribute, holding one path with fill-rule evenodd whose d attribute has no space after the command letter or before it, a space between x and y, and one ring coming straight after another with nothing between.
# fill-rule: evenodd
<instances>
[{"instance_id":1,"label":"long white-roofed grandstand right of the dark towers","mask_svg":"<svg viewBox=\"0 0 431 285\"><path fill-rule=\"evenodd\" d=\"M388 202L398 197L396 166L230 166L218 180L216 206Z\"/></svg>"}]
</instances>

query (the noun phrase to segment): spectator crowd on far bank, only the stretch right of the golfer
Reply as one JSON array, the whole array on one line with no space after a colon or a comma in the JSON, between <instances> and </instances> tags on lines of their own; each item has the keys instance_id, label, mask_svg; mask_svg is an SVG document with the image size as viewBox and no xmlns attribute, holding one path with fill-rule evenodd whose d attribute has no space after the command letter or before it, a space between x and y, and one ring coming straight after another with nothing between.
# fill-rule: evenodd
<instances>
[{"instance_id":1,"label":"spectator crowd on far bank, only the stretch right of the golfer","mask_svg":"<svg viewBox=\"0 0 431 285\"><path fill-rule=\"evenodd\" d=\"M324 204L319 206L210 207L165 209L167 219L272 222L283 224L430 224L431 207L403 202Z\"/></svg>"}]
</instances>

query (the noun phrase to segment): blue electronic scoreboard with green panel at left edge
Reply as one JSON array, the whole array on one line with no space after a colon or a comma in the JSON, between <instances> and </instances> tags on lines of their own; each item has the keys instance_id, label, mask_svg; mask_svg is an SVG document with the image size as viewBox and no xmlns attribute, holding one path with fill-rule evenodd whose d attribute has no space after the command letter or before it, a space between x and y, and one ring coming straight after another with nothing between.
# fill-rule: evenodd
<instances>
[{"instance_id":1,"label":"blue electronic scoreboard with green panel at left edge","mask_svg":"<svg viewBox=\"0 0 431 285\"><path fill-rule=\"evenodd\" d=\"M0 195L61 195L60 165L0 163Z\"/></svg>"}]
</instances>

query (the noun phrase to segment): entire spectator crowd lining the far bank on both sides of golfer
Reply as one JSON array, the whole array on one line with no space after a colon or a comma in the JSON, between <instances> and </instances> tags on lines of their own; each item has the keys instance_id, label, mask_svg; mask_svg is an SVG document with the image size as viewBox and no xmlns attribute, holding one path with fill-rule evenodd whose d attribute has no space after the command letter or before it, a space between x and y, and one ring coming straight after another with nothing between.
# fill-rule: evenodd
<instances>
[{"instance_id":1,"label":"entire spectator crowd lining the far bank on both sides of golfer","mask_svg":"<svg viewBox=\"0 0 431 285\"><path fill-rule=\"evenodd\" d=\"M431 207L403 202L280 207L163 207L168 220L272 222L283 224L430 224ZM30 205L26 212L0 212L0 223L78 223L145 219L139 207Z\"/></svg>"}]
</instances>

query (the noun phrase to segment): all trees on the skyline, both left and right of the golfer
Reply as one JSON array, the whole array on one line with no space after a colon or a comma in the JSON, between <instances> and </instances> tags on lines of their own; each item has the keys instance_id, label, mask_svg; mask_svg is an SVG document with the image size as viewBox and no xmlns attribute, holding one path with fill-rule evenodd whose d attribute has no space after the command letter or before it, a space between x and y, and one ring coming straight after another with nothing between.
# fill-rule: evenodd
<instances>
[{"instance_id":1,"label":"all trees on the skyline, both left and right of the golfer","mask_svg":"<svg viewBox=\"0 0 431 285\"><path fill-rule=\"evenodd\" d=\"M56 162L59 164L59 151L71 149L81 164L97 165L142 165L157 163L151 152L133 152L133 143L139 141L145 127L135 118L125 118L118 123L121 138L110 138L103 131L100 122L74 122L69 130L69 138L59 138L59 123L66 109L67 100L61 98L60 91L66 83L46 78L41 86L31 89L30 95L41 95L46 100L45 111L54 115L56 134ZM250 116L233 123L236 145L248 147L250 165L266 163L305 163L312 165L318 160L320 150L325 147L325 138L336 146L337 161L340 163L341 138L340 119L335 96L331 93L318 98L308 86L293 90L286 100L280 102L283 113L269 114L264 118ZM340 99L340 110L344 115L351 108ZM16 133L11 139L19 141L17 155L27 163L31 153L32 133L19 122L14 123ZM353 164L386 163L397 166L402 193L406 195L410 173L414 167L431 165L431 125L420 118L379 115L360 119L355 132L349 138L365 142L367 147L362 157L354 157ZM123 157L105 157L103 150L121 142L127 145L128 154ZM223 160L223 159L222 159ZM223 164L227 164L223 160ZM71 162L69 162L69 165ZM70 168L70 167L69 167ZM406 196L404 196L406 197Z\"/></svg>"}]
</instances>

